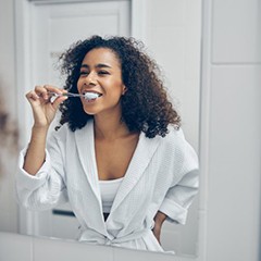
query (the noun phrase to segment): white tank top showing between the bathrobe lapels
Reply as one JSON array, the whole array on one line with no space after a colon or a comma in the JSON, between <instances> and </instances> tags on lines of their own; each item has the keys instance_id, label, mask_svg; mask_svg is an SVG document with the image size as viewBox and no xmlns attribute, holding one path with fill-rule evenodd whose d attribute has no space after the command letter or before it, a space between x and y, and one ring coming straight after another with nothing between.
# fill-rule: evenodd
<instances>
[{"instance_id":1,"label":"white tank top showing between the bathrobe lapels","mask_svg":"<svg viewBox=\"0 0 261 261\"><path fill-rule=\"evenodd\" d=\"M111 181L99 181L103 213L111 212L111 207L122 179L123 177Z\"/></svg>"}]
</instances>

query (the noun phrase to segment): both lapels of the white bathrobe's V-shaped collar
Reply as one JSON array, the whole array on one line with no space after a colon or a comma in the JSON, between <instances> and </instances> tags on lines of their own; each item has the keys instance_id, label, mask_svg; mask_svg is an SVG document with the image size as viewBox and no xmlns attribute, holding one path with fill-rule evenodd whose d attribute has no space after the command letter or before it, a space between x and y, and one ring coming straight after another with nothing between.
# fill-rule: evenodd
<instances>
[{"instance_id":1,"label":"both lapels of the white bathrobe's V-shaped collar","mask_svg":"<svg viewBox=\"0 0 261 261\"><path fill-rule=\"evenodd\" d=\"M75 132L75 141L78 150L79 161L82 163L84 172L86 173L92 192L95 194L98 203L100 204L102 214L98 169L95 154L95 135L92 120L89 121L84 128ZM132 189L135 187L144 174L147 165L149 164L159 146L159 136L150 139L147 138L144 133L140 133L139 141L112 204L109 219L113 219L113 212L115 209L121 206L121 202L132 191ZM140 159L142 159L142 161L140 161Z\"/></svg>"}]
</instances>

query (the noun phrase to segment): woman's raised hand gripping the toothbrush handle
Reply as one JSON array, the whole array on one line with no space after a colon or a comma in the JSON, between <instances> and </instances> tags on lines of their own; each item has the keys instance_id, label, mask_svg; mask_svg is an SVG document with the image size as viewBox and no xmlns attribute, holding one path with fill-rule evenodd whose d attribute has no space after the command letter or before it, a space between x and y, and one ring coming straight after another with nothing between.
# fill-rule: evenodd
<instances>
[{"instance_id":1,"label":"woman's raised hand gripping the toothbrush handle","mask_svg":"<svg viewBox=\"0 0 261 261\"><path fill-rule=\"evenodd\" d=\"M30 103L34 114L34 127L49 127L54 119L59 104L67 99L67 97L58 97L53 102L48 91L61 95L66 90L59 89L51 85L36 86L34 90L26 94L26 98Z\"/></svg>"}]
</instances>

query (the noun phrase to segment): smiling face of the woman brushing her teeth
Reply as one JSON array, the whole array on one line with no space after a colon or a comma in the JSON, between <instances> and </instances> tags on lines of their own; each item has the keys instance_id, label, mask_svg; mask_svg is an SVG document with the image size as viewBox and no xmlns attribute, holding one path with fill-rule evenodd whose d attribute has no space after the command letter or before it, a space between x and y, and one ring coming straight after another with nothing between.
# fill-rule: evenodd
<instances>
[{"instance_id":1,"label":"smiling face of the woman brushing her teeth","mask_svg":"<svg viewBox=\"0 0 261 261\"><path fill-rule=\"evenodd\" d=\"M84 111L90 115L121 113L120 99L125 92L116 54L109 48L90 50L84 58L77 82L79 94L96 92L94 100L82 98Z\"/></svg>"}]
</instances>

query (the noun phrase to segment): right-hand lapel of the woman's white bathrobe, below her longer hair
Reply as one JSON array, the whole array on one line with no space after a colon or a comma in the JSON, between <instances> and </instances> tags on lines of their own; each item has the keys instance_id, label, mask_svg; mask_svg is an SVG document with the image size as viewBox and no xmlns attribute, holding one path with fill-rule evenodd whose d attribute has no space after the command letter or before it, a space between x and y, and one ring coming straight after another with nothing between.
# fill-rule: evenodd
<instances>
[{"instance_id":1,"label":"right-hand lapel of the woman's white bathrobe, below her longer hair","mask_svg":"<svg viewBox=\"0 0 261 261\"><path fill-rule=\"evenodd\" d=\"M137 148L113 201L109 220L113 219L113 212L121 206L126 196L132 191L139 178L142 176L159 144L160 137L157 136L153 139L149 139L146 138L144 133L140 133Z\"/></svg>"}]
</instances>

